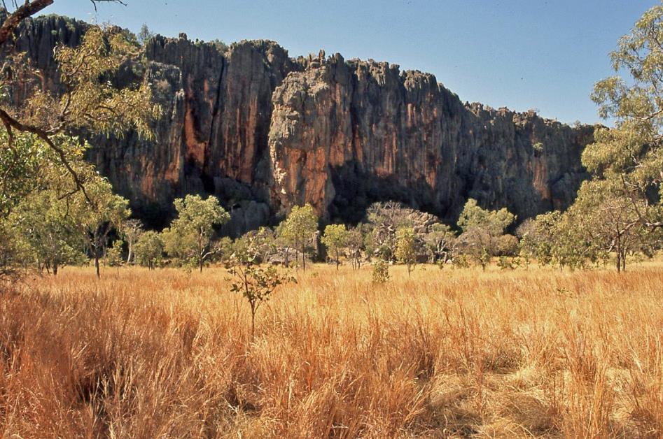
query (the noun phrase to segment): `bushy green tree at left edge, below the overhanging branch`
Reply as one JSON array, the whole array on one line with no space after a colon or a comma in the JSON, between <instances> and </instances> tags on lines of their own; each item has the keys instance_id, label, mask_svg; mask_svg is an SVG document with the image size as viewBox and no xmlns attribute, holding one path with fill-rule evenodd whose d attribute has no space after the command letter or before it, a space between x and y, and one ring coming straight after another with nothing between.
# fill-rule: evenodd
<instances>
[{"instance_id":1,"label":"bushy green tree at left edge, below the overhanging branch","mask_svg":"<svg viewBox=\"0 0 663 439\"><path fill-rule=\"evenodd\" d=\"M16 139L23 136L15 134L13 145L19 145ZM10 201L5 206L10 206L13 212L10 215L7 210L0 215L0 222L11 217L11 226L20 231L24 256L15 264L35 261L39 268L53 268L57 273L60 266L80 263L81 250L87 247L98 266L109 232L130 213L127 201L114 195L109 182L83 160L87 143L81 144L77 138L64 134L50 137L50 142L64 154L69 168L76 173L78 182L74 182L70 171L62 166L59 154L43 139L32 140L34 154L26 155L27 161L18 163L32 161L34 173L11 178L16 189L8 191L5 200Z\"/></svg>"}]
</instances>

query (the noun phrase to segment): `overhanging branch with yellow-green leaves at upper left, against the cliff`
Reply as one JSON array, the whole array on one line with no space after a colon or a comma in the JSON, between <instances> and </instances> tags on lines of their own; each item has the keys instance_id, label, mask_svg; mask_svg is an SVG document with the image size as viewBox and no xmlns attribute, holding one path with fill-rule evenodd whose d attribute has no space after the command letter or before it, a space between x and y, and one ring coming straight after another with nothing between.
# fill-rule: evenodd
<instances>
[{"instance_id":1,"label":"overhanging branch with yellow-green leaves at upper left, against the cliff","mask_svg":"<svg viewBox=\"0 0 663 439\"><path fill-rule=\"evenodd\" d=\"M0 87L28 87L30 97L13 103L11 93L0 96L0 122L8 139L0 147L13 150L17 131L34 136L55 152L76 189L85 193L85 181L71 162L76 143L60 143L56 137L72 130L122 137L134 129L139 136L150 138L150 124L161 110L153 103L148 82L120 89L109 80L120 66L137 56L137 48L120 30L90 27L81 45L59 46L55 50L62 94L41 86L37 73L29 68L29 59L10 59L6 68L15 72L2 79Z\"/></svg>"}]
</instances>

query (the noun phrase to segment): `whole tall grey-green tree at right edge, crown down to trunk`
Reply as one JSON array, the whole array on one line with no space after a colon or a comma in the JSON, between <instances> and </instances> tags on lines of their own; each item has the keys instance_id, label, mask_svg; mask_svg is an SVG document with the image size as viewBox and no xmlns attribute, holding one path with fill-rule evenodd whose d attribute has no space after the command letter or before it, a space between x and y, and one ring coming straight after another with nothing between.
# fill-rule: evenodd
<instances>
[{"instance_id":1,"label":"whole tall grey-green tree at right edge, crown down to trunk","mask_svg":"<svg viewBox=\"0 0 663 439\"><path fill-rule=\"evenodd\" d=\"M573 227L566 252L590 261L614 252L617 271L629 255L652 254L663 229L662 27L663 6L654 6L610 54L615 72L630 77L594 86L599 115L612 118L615 128L596 129L582 154L593 178L565 214Z\"/></svg>"}]
</instances>

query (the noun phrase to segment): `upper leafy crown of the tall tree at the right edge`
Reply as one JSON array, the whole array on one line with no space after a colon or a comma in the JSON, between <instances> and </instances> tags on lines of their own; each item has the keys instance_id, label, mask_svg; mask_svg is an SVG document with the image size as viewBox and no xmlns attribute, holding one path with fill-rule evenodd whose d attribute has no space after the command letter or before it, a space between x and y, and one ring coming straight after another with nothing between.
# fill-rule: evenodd
<instances>
[{"instance_id":1,"label":"upper leafy crown of the tall tree at the right edge","mask_svg":"<svg viewBox=\"0 0 663 439\"><path fill-rule=\"evenodd\" d=\"M599 115L615 122L599 128L587 145L582 163L597 180L610 182L621 199L634 201L643 226L663 227L663 5L654 6L623 36L610 54L615 73L596 82L592 99Z\"/></svg>"}]
</instances>

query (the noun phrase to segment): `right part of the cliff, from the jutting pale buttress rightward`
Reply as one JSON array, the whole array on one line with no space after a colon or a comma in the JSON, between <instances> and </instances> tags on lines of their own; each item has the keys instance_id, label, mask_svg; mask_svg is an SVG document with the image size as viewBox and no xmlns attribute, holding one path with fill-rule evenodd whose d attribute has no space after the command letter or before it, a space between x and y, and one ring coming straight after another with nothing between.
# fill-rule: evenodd
<instances>
[{"instance_id":1,"label":"right part of the cliff, from the jutting pale buttress rightward","mask_svg":"<svg viewBox=\"0 0 663 439\"><path fill-rule=\"evenodd\" d=\"M468 197L519 217L564 208L592 128L464 104L433 75L319 57L272 97L272 200L358 219L394 199L445 217Z\"/></svg>"}]
</instances>

